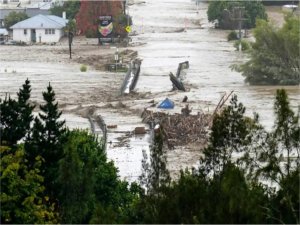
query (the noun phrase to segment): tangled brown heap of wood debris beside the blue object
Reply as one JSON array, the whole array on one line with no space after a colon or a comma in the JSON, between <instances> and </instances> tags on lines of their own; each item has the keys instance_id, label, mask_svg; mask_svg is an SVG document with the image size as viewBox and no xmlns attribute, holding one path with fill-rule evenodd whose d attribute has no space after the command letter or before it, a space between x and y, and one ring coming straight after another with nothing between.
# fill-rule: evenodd
<instances>
[{"instance_id":1,"label":"tangled brown heap of wood debris beside the blue object","mask_svg":"<svg viewBox=\"0 0 300 225\"><path fill-rule=\"evenodd\" d=\"M186 109L188 107L184 111ZM150 125L150 128L154 128L156 124L161 126L164 139L169 148L190 143L204 145L207 142L207 133L211 121L211 115L209 114L176 113L169 115L164 112L153 112L145 109L142 118L144 123Z\"/></svg>"}]
</instances>

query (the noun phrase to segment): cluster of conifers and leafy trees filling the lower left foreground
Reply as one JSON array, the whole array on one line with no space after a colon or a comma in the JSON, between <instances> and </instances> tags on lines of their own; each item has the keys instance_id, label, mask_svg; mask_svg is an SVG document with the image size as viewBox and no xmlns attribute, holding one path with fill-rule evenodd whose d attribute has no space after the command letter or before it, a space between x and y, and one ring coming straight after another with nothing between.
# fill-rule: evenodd
<instances>
[{"instance_id":1,"label":"cluster of conifers and leafy trees filling the lower left foreground","mask_svg":"<svg viewBox=\"0 0 300 225\"><path fill-rule=\"evenodd\" d=\"M1 223L123 223L139 186L119 179L96 137L65 128L50 84L35 118L30 92L26 80L18 101L0 99Z\"/></svg>"}]
</instances>

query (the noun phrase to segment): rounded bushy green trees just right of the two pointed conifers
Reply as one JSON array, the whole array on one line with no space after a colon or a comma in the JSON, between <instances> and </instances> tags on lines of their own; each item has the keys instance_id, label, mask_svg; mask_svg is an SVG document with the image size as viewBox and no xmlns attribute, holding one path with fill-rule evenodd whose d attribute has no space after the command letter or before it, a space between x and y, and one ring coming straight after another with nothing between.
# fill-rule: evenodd
<instances>
[{"instance_id":1,"label":"rounded bushy green trees just right of the two pointed conifers","mask_svg":"<svg viewBox=\"0 0 300 225\"><path fill-rule=\"evenodd\" d=\"M126 223L139 188L119 179L95 136L74 130L66 139L58 176L62 222Z\"/></svg>"}]
</instances>

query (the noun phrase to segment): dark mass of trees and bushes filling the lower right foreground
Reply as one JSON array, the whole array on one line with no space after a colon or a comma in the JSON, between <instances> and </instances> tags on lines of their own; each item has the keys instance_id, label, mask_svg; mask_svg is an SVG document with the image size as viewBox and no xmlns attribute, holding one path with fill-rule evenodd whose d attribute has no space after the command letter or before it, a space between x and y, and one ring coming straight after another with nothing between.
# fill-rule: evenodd
<instances>
[{"instance_id":1,"label":"dark mass of trees and bushes filling the lower right foreground","mask_svg":"<svg viewBox=\"0 0 300 225\"><path fill-rule=\"evenodd\" d=\"M244 117L245 110L234 96L213 120L199 168L182 171L179 180L160 182L155 192L142 195L138 220L131 222L298 223L299 118L284 90L277 91L278 122L272 132L263 129L257 116ZM289 135L277 136L278 129ZM282 149L283 143L288 147ZM298 155L292 158L291 152ZM151 168L160 173L157 163ZM264 185L266 181L276 182L276 188Z\"/></svg>"}]
</instances>

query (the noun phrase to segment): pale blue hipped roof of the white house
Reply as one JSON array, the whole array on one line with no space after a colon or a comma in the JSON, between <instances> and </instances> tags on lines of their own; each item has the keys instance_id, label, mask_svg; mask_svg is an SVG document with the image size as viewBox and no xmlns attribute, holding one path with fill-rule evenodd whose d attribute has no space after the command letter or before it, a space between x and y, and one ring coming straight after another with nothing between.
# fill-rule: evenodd
<instances>
[{"instance_id":1,"label":"pale blue hipped roof of the white house","mask_svg":"<svg viewBox=\"0 0 300 225\"><path fill-rule=\"evenodd\" d=\"M68 20L53 15L36 15L23 20L10 29L61 29L66 26Z\"/></svg>"}]
</instances>

